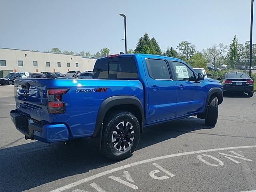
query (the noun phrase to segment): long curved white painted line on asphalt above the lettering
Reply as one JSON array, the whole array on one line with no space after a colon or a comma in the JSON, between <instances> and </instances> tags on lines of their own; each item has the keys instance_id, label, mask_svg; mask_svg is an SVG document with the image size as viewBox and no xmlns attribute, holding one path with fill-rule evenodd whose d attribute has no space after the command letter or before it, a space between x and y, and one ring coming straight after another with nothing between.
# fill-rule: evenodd
<instances>
[{"instance_id":1,"label":"long curved white painted line on asphalt above the lettering","mask_svg":"<svg viewBox=\"0 0 256 192\"><path fill-rule=\"evenodd\" d=\"M76 182L73 182L73 183L68 184L66 186L57 188L57 189L52 190L50 192L62 192L64 190L68 190L70 188L73 188L73 187L78 186L80 184L83 184L85 182L94 180L96 178L99 178L99 177L102 177L102 176L105 176L105 175L108 175L108 174L111 174L111 173L114 173L114 172L117 172L117 171L120 171L120 170L124 170L126 168L130 168L130 167L133 167L133 166L137 166L137 165L145 164L145 163L149 163L149 162L154 162L154 161L157 161L157 160L167 159L167 158L171 158L171 157L185 156L185 155L190 155L190 154L200 154L200 153L205 153L205 152L214 152L214 151L222 151L222 150L233 150L233 149L244 149L244 148L256 148L256 145L206 149L206 150L198 150L198 151L192 151L192 152L183 152L183 153L170 154L170 155L166 155L166 156L159 156L159 157L156 157L156 158L146 159L146 160L130 163L130 164L127 164L127 165L124 165L124 166L120 166L120 167L117 167L117 168L113 168L113 169L110 169L110 170L107 170L107 171L104 171L104 172L101 172L101 173L89 176L87 178L78 180Z\"/></svg>"}]
</instances>

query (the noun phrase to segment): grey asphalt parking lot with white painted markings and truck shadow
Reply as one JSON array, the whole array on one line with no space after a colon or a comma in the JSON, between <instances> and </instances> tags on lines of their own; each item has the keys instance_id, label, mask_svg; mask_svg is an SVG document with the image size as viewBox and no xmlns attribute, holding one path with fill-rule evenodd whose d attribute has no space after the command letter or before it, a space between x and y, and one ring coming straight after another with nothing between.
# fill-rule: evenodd
<instances>
[{"instance_id":1,"label":"grey asphalt parking lot with white painted markings and truck shadow","mask_svg":"<svg viewBox=\"0 0 256 192\"><path fill-rule=\"evenodd\" d=\"M145 128L133 156L104 158L94 139L25 140L10 120L13 86L0 86L0 191L256 190L256 95L225 96L216 126L195 116Z\"/></svg>"}]
</instances>

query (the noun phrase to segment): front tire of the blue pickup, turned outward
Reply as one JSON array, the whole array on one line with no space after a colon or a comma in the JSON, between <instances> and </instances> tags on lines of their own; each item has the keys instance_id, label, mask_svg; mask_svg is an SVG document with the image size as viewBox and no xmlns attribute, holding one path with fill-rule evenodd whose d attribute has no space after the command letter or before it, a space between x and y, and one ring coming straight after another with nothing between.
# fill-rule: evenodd
<instances>
[{"instance_id":1,"label":"front tire of the blue pickup, turned outward","mask_svg":"<svg viewBox=\"0 0 256 192\"><path fill-rule=\"evenodd\" d=\"M206 125L216 125L218 120L218 107L218 98L216 96L211 96L206 119L204 120Z\"/></svg>"}]
</instances>

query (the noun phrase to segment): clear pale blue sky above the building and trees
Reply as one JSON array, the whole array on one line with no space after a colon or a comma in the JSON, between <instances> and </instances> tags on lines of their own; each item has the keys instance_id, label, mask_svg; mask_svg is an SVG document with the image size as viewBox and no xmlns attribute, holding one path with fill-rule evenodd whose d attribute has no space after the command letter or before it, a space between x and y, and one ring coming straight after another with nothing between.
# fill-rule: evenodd
<instances>
[{"instance_id":1,"label":"clear pale blue sky above the building and trees","mask_svg":"<svg viewBox=\"0 0 256 192\"><path fill-rule=\"evenodd\" d=\"M90 52L135 49L147 32L164 51L186 40L198 51L250 40L251 0L0 0L0 47ZM254 2L253 42L256 42Z\"/></svg>"}]
</instances>

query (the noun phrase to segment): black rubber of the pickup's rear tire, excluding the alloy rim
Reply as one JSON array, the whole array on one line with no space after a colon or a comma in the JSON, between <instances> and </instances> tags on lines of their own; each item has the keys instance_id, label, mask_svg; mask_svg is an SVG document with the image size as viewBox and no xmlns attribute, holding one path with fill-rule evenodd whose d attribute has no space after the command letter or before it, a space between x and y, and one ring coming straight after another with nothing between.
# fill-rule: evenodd
<instances>
[{"instance_id":1,"label":"black rubber of the pickup's rear tire, excluding the alloy rim","mask_svg":"<svg viewBox=\"0 0 256 192\"><path fill-rule=\"evenodd\" d=\"M128 112L122 112L120 115L118 114L113 116L112 120L110 120L110 122L106 125L106 128L109 129L109 134L106 136L107 138L105 138L105 141L108 152L110 152L113 156L122 159L130 156L132 152L134 152L134 150L136 149L140 140L140 124L136 117ZM114 148L112 144L112 134L113 131L116 129L116 126L122 121L128 121L132 124L134 130L134 140L131 146L129 146L128 150L118 151L116 150L116 148Z\"/></svg>"}]
</instances>

